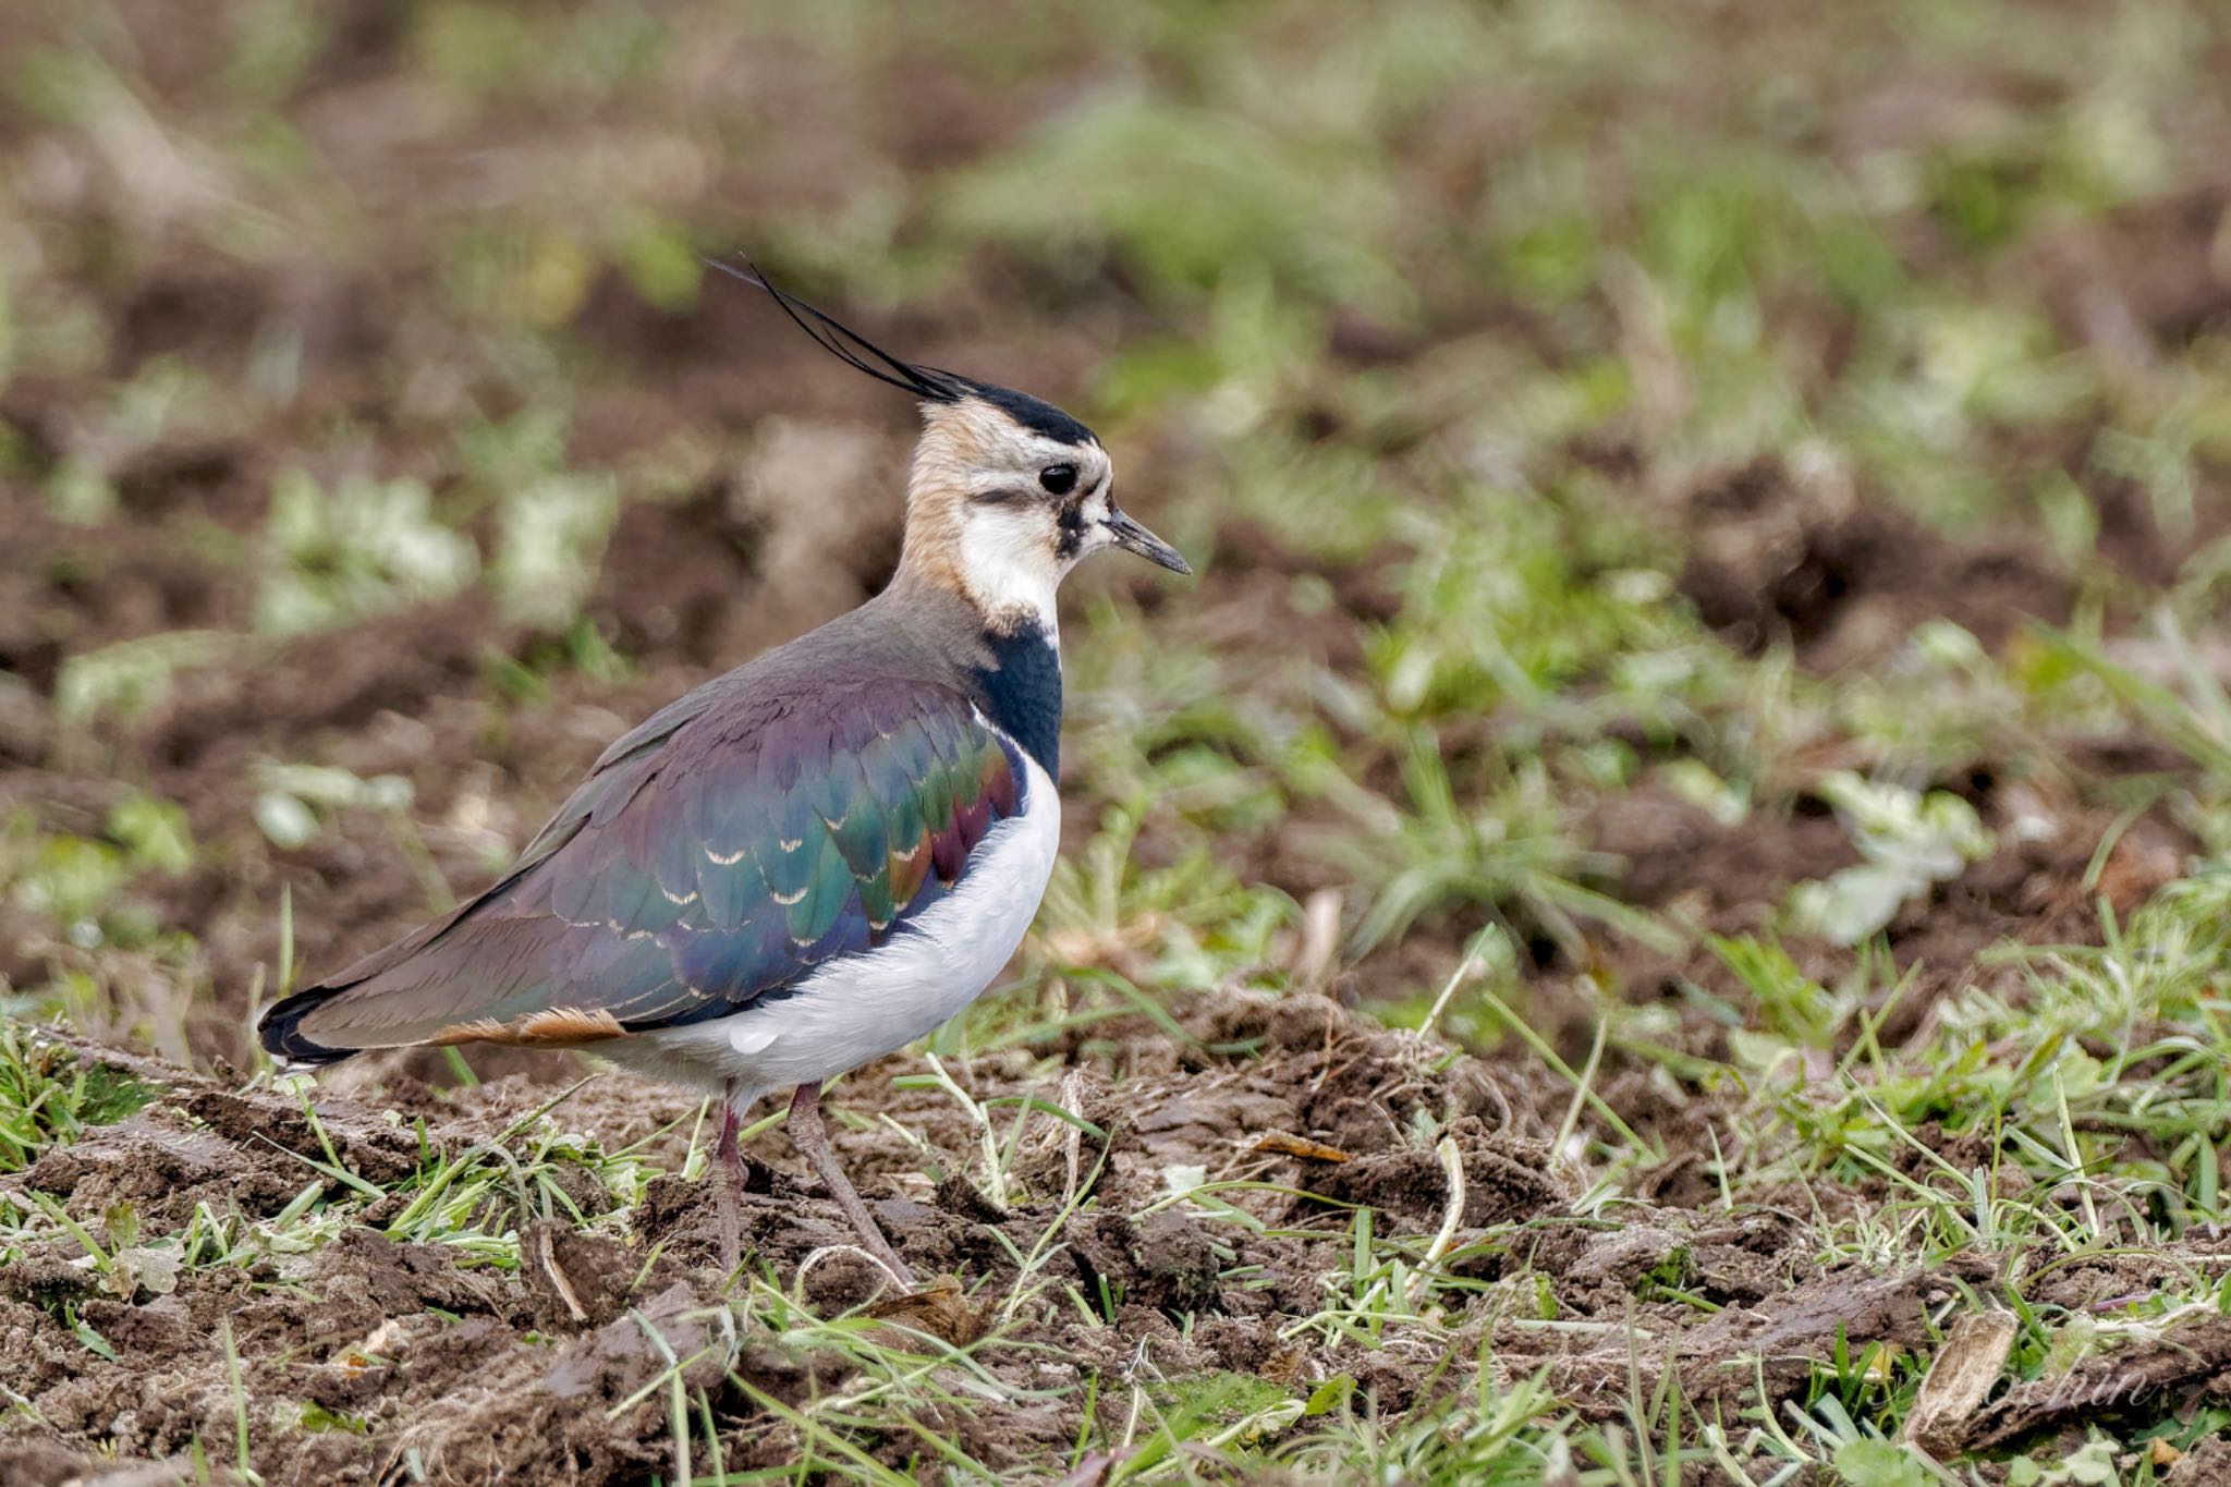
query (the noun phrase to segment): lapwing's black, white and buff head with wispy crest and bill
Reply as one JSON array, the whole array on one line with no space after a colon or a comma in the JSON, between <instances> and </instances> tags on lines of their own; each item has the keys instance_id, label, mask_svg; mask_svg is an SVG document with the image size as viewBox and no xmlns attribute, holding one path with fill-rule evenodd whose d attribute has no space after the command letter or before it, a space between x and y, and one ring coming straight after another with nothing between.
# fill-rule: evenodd
<instances>
[{"instance_id":1,"label":"lapwing's black, white and buff head with wispy crest and bill","mask_svg":"<svg viewBox=\"0 0 2231 1487\"><path fill-rule=\"evenodd\" d=\"M1078 419L1028 392L899 361L759 274L814 341L921 401L906 482L899 571L955 589L993 624L1055 629L1053 593L1091 553L1120 546L1174 573L1191 566L1116 506L1116 466Z\"/></svg>"}]
</instances>

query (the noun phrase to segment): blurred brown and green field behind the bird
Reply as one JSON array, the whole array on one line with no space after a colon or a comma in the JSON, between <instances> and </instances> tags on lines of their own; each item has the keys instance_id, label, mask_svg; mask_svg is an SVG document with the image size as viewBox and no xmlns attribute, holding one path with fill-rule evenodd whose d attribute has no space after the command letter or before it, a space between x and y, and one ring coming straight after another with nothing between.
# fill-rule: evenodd
<instances>
[{"instance_id":1,"label":"blurred brown and green field behind the bird","mask_svg":"<svg viewBox=\"0 0 2231 1487\"><path fill-rule=\"evenodd\" d=\"M881 582L910 410L725 252L1071 406L1203 562L1073 584L1071 959L1292 968L1316 894L1314 979L1399 1003L1486 930L1577 1026L1575 974L1729 988L1696 927L1957 981L2055 894L2082 930L2133 807L2122 907L2224 847L2177 776L2222 713L2169 696L2227 644L2211 7L207 0L0 45L18 1010L239 1057L283 883L312 965L375 943Z\"/></svg>"}]
</instances>

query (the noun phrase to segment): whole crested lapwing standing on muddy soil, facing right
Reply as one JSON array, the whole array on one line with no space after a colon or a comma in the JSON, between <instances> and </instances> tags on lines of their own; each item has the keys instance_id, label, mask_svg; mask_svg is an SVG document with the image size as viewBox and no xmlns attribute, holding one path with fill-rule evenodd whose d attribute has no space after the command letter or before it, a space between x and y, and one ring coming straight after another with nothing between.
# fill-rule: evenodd
<instances>
[{"instance_id":1,"label":"whole crested lapwing standing on muddy soil, facing right","mask_svg":"<svg viewBox=\"0 0 2231 1487\"><path fill-rule=\"evenodd\" d=\"M825 352L919 404L890 582L676 698L589 767L489 887L272 1003L283 1070L377 1048L576 1048L721 1099L738 1262L743 1112L788 1133L861 1246L910 1269L846 1179L823 1086L968 1008L1022 945L1060 847L1055 591L1122 548L1189 575L1116 504L1091 428L904 361L750 265Z\"/></svg>"}]
</instances>

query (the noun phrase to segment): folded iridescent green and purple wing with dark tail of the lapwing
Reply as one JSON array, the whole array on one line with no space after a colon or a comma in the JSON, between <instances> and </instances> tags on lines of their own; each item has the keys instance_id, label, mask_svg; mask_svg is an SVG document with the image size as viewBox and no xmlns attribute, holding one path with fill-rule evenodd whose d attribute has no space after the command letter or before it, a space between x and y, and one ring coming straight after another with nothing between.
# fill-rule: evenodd
<instances>
[{"instance_id":1,"label":"folded iridescent green and purple wing with dark tail of the lapwing","mask_svg":"<svg viewBox=\"0 0 2231 1487\"><path fill-rule=\"evenodd\" d=\"M714 684L618 740L489 892L274 1005L265 1046L582 1043L734 1012L901 932L1024 789L953 689Z\"/></svg>"}]
</instances>

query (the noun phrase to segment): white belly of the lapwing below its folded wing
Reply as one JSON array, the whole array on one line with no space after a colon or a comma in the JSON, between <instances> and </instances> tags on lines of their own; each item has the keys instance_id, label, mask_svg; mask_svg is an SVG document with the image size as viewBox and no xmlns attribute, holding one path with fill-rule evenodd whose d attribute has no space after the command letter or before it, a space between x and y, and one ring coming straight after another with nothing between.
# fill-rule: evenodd
<instances>
[{"instance_id":1,"label":"white belly of the lapwing below its folded wing","mask_svg":"<svg viewBox=\"0 0 2231 1487\"><path fill-rule=\"evenodd\" d=\"M747 1104L881 1059L953 1019L1022 945L1060 852L1060 796L1037 760L1022 760L1022 814L993 825L959 885L883 945L734 1017L616 1039L609 1057L654 1077L734 1083Z\"/></svg>"}]
</instances>

